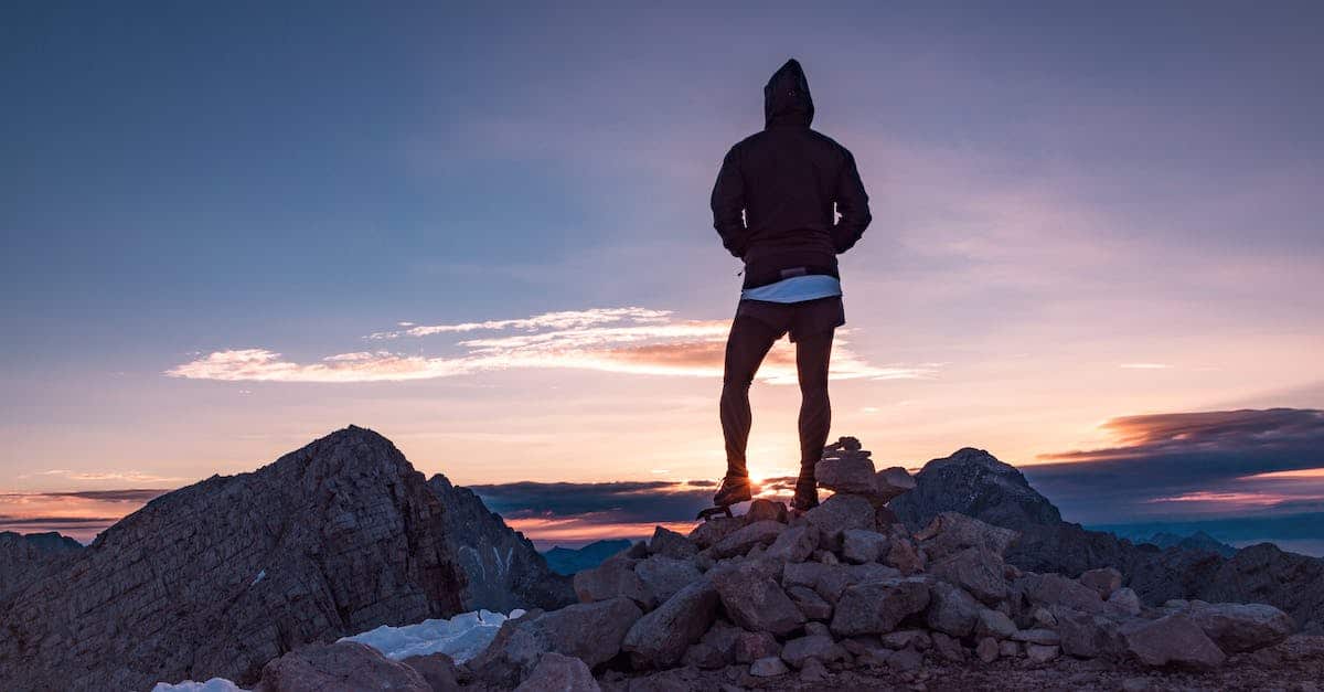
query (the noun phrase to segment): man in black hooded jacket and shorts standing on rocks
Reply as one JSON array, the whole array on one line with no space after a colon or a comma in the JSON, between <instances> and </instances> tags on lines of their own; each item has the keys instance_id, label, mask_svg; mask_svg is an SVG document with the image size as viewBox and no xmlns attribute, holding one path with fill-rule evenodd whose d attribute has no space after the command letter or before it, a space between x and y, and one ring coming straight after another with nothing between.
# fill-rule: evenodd
<instances>
[{"instance_id":1,"label":"man in black hooded jacket and shorts standing on rocks","mask_svg":"<svg viewBox=\"0 0 1324 692\"><path fill-rule=\"evenodd\" d=\"M788 60L763 87L763 131L731 147L712 187L712 225L727 251L744 261L722 384L727 475L714 504L752 497L745 465L749 384L773 342L789 331L801 394L800 479L792 506L806 510L818 504L814 464L831 423L833 331L846 323L837 255L859 240L871 217L854 156L809 129L814 103L800 62Z\"/></svg>"}]
</instances>

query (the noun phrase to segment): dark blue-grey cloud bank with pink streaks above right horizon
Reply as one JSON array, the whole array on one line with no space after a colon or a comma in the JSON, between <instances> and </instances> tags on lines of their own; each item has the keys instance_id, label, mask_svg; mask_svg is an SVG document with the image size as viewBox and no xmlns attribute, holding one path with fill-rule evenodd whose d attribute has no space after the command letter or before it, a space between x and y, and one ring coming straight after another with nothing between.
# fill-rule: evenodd
<instances>
[{"instance_id":1,"label":"dark blue-grey cloud bank with pink streaks above right horizon","mask_svg":"<svg viewBox=\"0 0 1324 692\"><path fill-rule=\"evenodd\" d=\"M1317 510L1324 500L1320 410L1155 414L1103 428L1116 445L1022 469L1076 521Z\"/></svg>"}]
</instances>

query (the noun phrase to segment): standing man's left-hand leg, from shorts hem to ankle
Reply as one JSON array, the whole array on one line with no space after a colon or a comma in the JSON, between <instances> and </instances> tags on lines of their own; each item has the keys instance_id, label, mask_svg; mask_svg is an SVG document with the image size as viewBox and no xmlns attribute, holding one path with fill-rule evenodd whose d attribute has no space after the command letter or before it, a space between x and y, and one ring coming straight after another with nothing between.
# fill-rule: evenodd
<instances>
[{"instance_id":1,"label":"standing man's left-hand leg, from shorts hem to ankle","mask_svg":"<svg viewBox=\"0 0 1324 692\"><path fill-rule=\"evenodd\" d=\"M727 337L726 373L722 376L722 435L727 441L727 475L748 476L745 445L749 443L749 384L781 331L748 316L736 316ZM826 435L826 432L824 433ZM826 439L826 437L825 437Z\"/></svg>"}]
</instances>

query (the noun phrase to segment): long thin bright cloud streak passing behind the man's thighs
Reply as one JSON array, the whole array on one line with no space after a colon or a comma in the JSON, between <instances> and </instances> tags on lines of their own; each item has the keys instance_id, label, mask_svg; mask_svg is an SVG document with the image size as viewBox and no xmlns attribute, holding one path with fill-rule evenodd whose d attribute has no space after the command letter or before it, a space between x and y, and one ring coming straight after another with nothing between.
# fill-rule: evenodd
<instances>
[{"instance_id":1,"label":"long thin bright cloud streak passing behind the man's thighs","mask_svg":"<svg viewBox=\"0 0 1324 692\"><path fill-rule=\"evenodd\" d=\"M727 319L675 319L666 310L602 308L544 313L520 319L432 325L405 331L373 334L391 339L401 335L440 333L506 331L469 338L454 346L455 355L400 354L388 350L351 351L299 363L267 349L213 351L181 363L166 374L175 378L222 382L405 382L469 375L510 369L575 369L636 375L722 376ZM849 329L833 343L831 379L912 379L936 370L936 365L874 366L849 347ZM781 339L768 354L759 379L772 384L796 382L794 350Z\"/></svg>"}]
</instances>

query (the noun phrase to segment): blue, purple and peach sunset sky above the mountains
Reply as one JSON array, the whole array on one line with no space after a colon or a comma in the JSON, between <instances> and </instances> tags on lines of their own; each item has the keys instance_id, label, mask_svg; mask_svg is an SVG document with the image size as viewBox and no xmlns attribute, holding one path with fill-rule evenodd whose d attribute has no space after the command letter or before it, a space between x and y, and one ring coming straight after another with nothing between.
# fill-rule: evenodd
<instances>
[{"instance_id":1,"label":"blue, purple and peach sunset sky above the mountains","mask_svg":"<svg viewBox=\"0 0 1324 692\"><path fill-rule=\"evenodd\" d=\"M350 423L540 540L682 521L740 284L708 195L788 57L874 212L834 437L988 449L1087 524L1321 509L1317 3L573 5L0 9L0 529Z\"/></svg>"}]
</instances>

